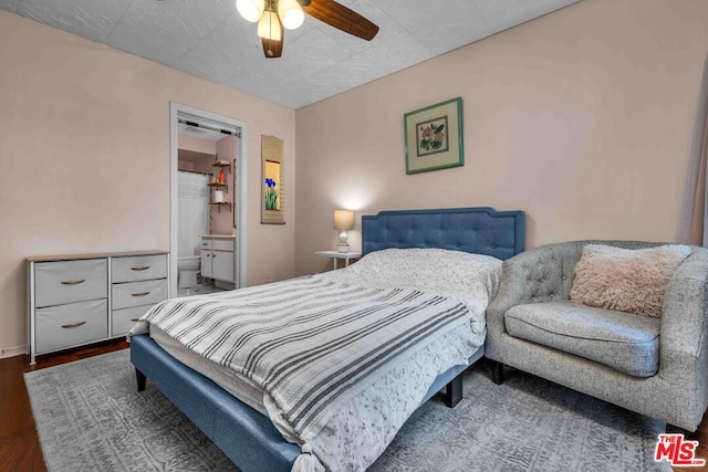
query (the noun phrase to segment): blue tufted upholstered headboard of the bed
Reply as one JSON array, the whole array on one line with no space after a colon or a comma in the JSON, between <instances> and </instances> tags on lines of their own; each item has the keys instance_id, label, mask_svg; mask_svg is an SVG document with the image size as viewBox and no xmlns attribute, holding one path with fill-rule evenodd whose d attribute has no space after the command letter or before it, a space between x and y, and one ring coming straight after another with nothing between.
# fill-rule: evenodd
<instances>
[{"instance_id":1,"label":"blue tufted upholstered headboard of the bed","mask_svg":"<svg viewBox=\"0 0 708 472\"><path fill-rule=\"evenodd\" d=\"M523 211L493 208L381 211L362 217L362 253L441 248L509 259L524 250Z\"/></svg>"}]
</instances>

